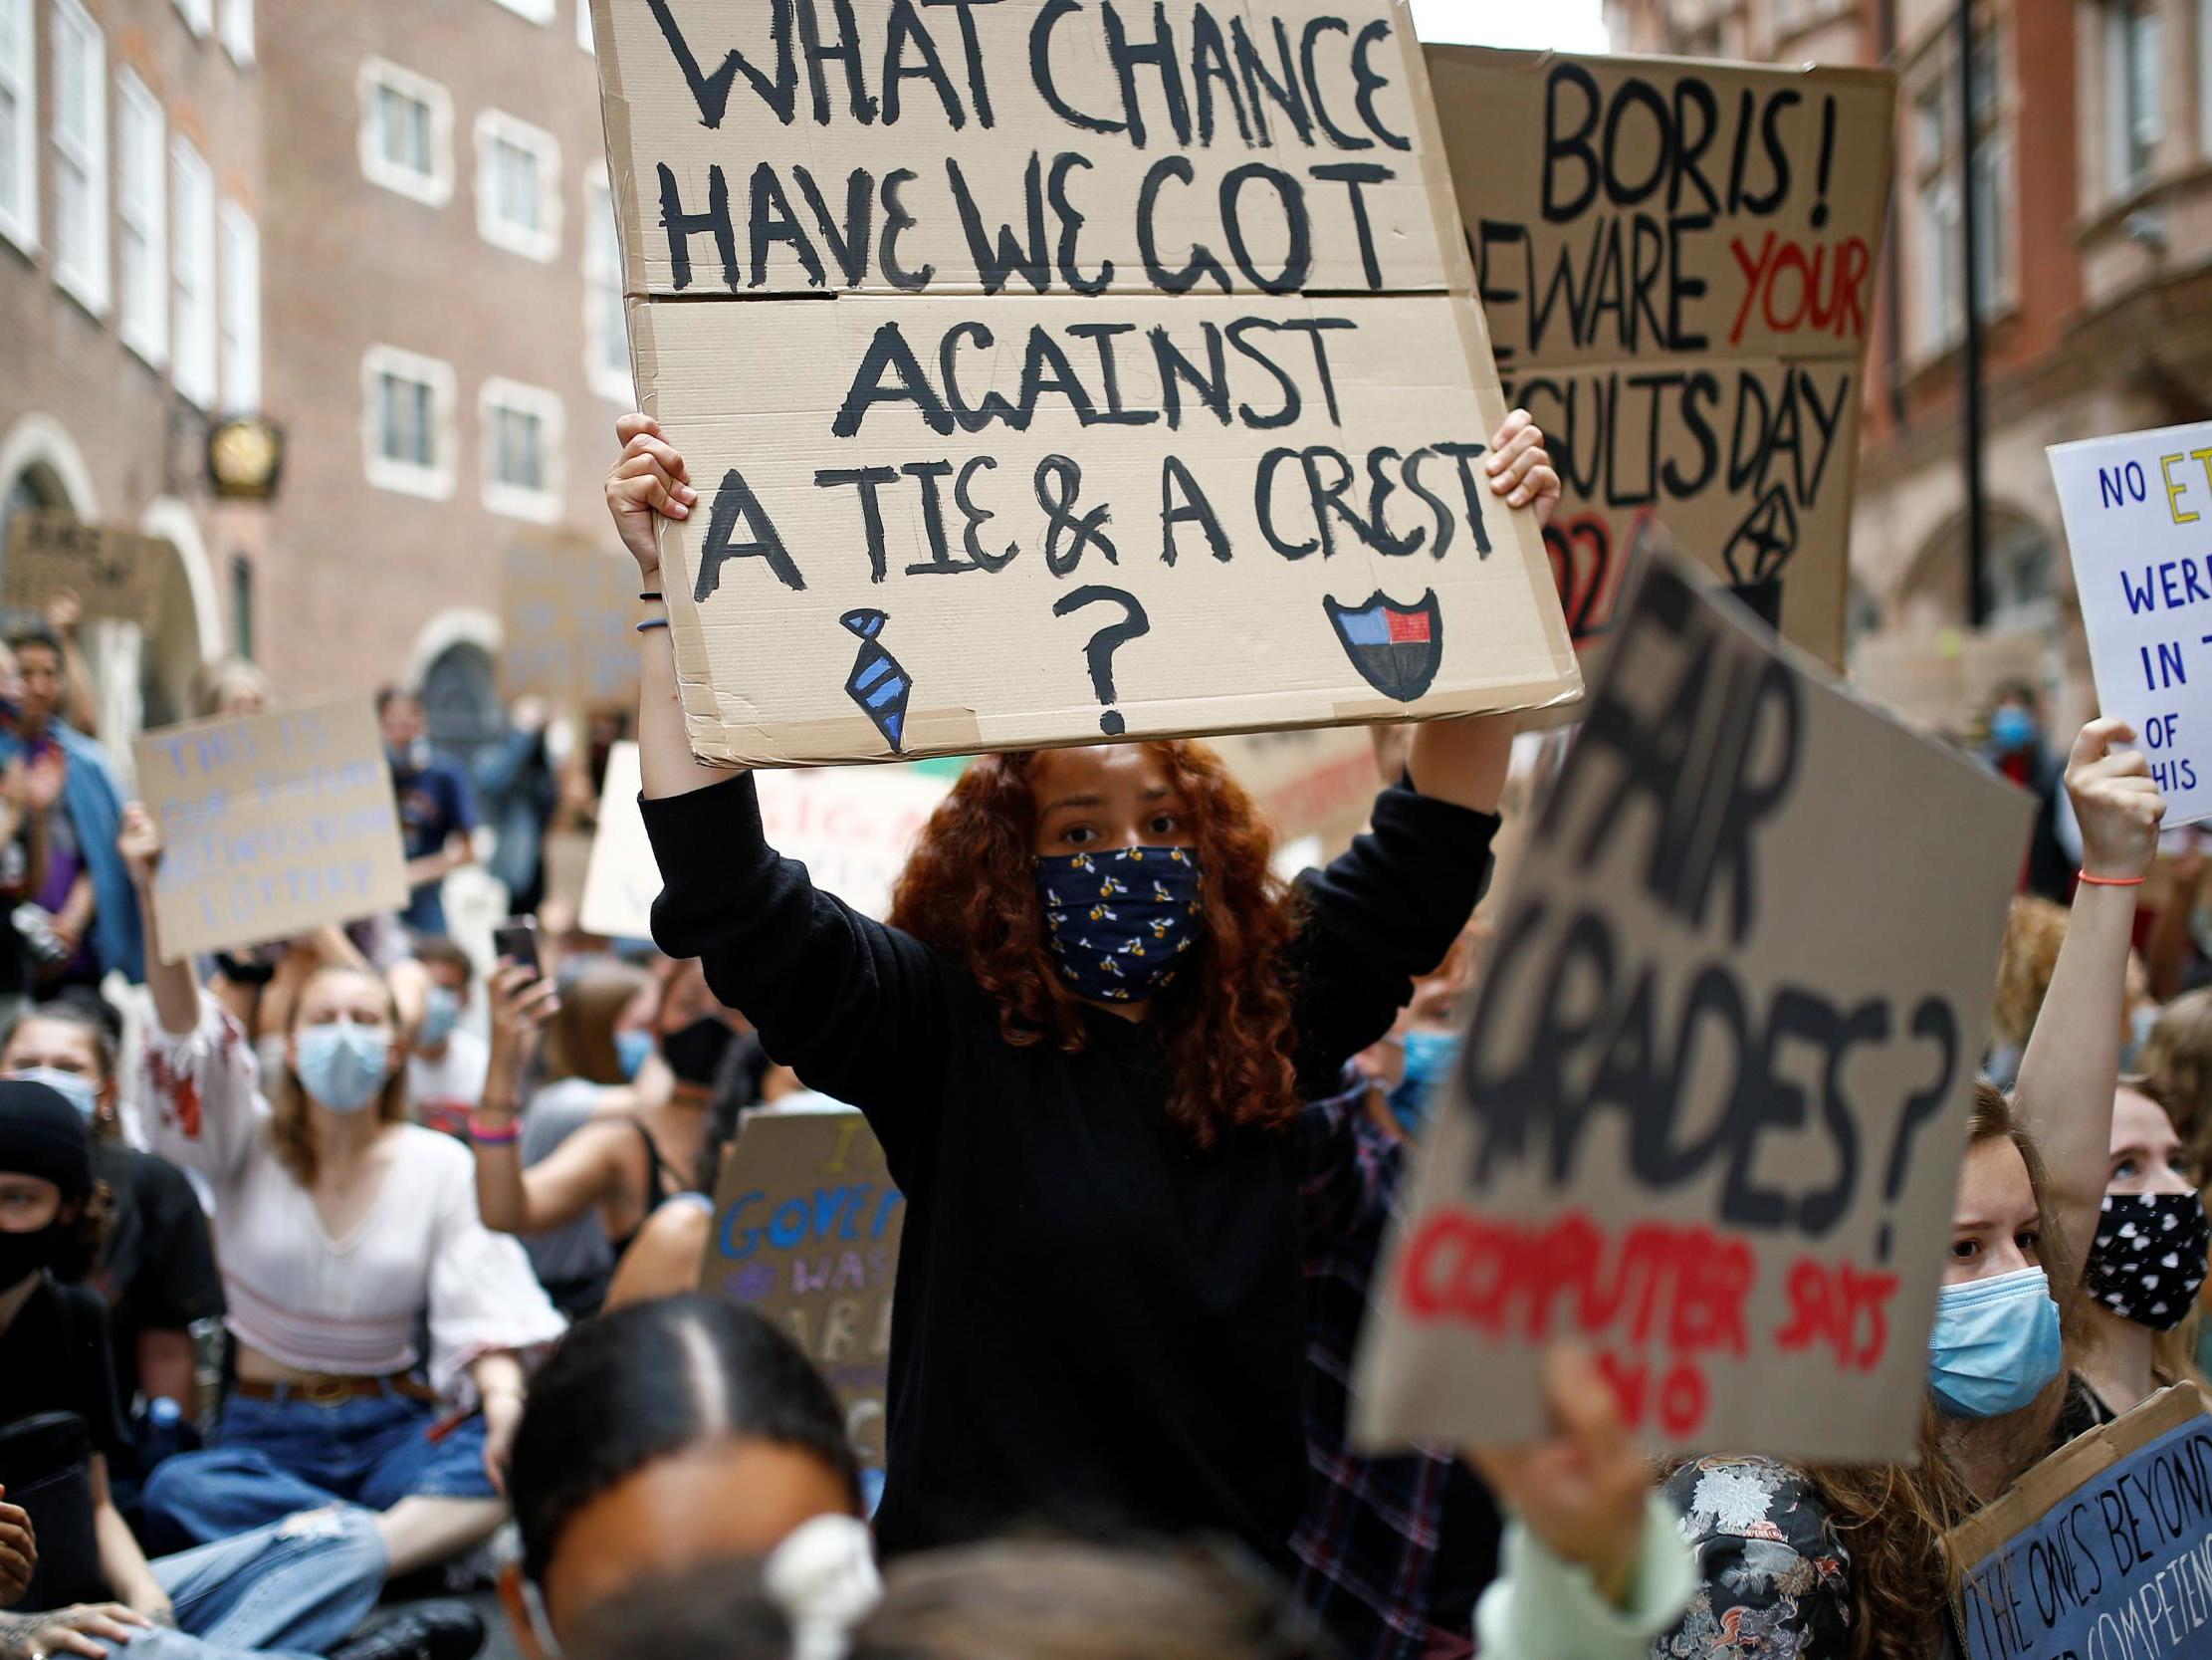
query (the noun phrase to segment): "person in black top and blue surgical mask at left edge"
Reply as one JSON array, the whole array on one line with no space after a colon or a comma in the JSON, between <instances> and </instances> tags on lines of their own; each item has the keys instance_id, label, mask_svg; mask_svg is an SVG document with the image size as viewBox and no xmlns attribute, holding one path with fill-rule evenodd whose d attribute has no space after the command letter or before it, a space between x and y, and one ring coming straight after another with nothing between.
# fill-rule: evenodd
<instances>
[{"instance_id":1,"label":"person in black top and blue surgical mask at left edge","mask_svg":"<svg viewBox=\"0 0 2212 1660\"><path fill-rule=\"evenodd\" d=\"M128 1512L128 1490L173 1439L157 1432L153 1403L173 1401L179 1423L192 1419L192 1326L223 1313L208 1217L184 1171L122 1140L115 1036L97 1005L62 998L29 1007L0 1040L0 1076L46 1085L77 1109L93 1135L93 1175L115 1200L93 1282L106 1295L124 1405L144 1399L148 1408L131 1423L139 1467L113 1472Z\"/></svg>"}]
</instances>

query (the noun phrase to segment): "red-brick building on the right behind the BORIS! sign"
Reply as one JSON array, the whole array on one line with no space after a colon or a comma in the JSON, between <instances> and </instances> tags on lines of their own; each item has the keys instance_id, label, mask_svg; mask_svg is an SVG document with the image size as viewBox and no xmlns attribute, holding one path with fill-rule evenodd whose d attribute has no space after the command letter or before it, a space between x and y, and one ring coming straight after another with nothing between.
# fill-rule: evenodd
<instances>
[{"instance_id":1,"label":"red-brick building on the right behind the BORIS! sign","mask_svg":"<svg viewBox=\"0 0 2212 1660\"><path fill-rule=\"evenodd\" d=\"M1958 9L1613 0L1615 51L1891 64L1898 179L1851 529L1858 657L1966 631ZM2212 416L2212 0L1980 0L1989 618L2035 642L2055 726L2095 691L2044 447ZM1962 637L1964 635L1964 637ZM1876 646L1885 640L1889 651ZM2020 662L2020 653L2008 653ZM1980 717L1942 710L1955 730ZM1938 710L1931 710L1938 713Z\"/></svg>"}]
</instances>

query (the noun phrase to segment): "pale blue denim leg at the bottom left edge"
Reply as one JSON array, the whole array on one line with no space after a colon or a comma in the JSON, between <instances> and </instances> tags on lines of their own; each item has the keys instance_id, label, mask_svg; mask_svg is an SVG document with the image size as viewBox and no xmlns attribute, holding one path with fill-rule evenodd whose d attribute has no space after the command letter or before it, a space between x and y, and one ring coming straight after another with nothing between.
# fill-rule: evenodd
<instances>
[{"instance_id":1,"label":"pale blue denim leg at the bottom left edge","mask_svg":"<svg viewBox=\"0 0 2212 1660\"><path fill-rule=\"evenodd\" d=\"M117 1649L122 1660L321 1656L376 1607L385 1543L369 1512L338 1505L164 1556L153 1576L177 1607L177 1629L102 1642L111 1656Z\"/></svg>"}]
</instances>

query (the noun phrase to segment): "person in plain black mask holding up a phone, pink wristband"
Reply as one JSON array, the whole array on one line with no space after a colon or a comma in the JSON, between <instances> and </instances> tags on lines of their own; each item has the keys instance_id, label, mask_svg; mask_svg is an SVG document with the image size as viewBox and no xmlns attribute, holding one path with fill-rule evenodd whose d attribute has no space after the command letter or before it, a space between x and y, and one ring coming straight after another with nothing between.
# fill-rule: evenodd
<instances>
[{"instance_id":1,"label":"person in plain black mask holding up a phone, pink wristband","mask_svg":"<svg viewBox=\"0 0 2212 1660\"><path fill-rule=\"evenodd\" d=\"M637 1109L593 1120L524 1169L520 1085L557 1007L555 987L526 967L504 963L491 976L491 1071L471 1129L476 1202L487 1226L520 1235L597 1211L619 1259L666 1197L699 1186L714 1080L739 1029L699 965L679 963L661 985L653 1056L635 1078ZM604 1290L593 1288L593 1304Z\"/></svg>"}]
</instances>

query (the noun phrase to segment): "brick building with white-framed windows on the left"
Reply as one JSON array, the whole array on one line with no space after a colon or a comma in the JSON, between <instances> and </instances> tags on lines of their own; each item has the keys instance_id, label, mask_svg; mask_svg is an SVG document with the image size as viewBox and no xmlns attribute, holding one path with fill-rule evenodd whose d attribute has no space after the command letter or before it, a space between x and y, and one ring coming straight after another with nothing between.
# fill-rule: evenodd
<instances>
[{"instance_id":1,"label":"brick building with white-framed windows on the left","mask_svg":"<svg viewBox=\"0 0 2212 1660\"><path fill-rule=\"evenodd\" d=\"M0 0L0 513L175 549L88 640L104 728L241 653L482 733L507 547L613 558L617 259L584 0ZM268 505L208 483L232 412Z\"/></svg>"}]
</instances>

